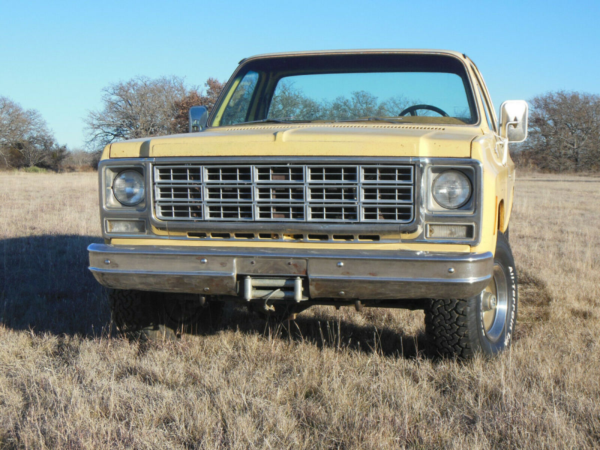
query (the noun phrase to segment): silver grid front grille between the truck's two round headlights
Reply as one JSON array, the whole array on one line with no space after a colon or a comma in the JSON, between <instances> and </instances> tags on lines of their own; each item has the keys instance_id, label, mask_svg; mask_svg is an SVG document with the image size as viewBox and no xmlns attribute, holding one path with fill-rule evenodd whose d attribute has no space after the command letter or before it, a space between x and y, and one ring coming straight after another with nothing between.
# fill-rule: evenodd
<instances>
[{"instance_id":1,"label":"silver grid front grille between the truck's two round headlights","mask_svg":"<svg viewBox=\"0 0 600 450\"><path fill-rule=\"evenodd\" d=\"M160 220L409 223L415 169L403 165L154 166Z\"/></svg>"}]
</instances>

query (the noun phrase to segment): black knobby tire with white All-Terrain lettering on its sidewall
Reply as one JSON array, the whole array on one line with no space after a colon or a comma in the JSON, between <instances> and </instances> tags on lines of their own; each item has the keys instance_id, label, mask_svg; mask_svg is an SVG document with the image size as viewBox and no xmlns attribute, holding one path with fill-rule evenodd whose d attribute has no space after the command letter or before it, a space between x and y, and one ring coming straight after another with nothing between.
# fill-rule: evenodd
<instances>
[{"instance_id":1,"label":"black knobby tire with white All-Terrain lettering on its sidewall","mask_svg":"<svg viewBox=\"0 0 600 450\"><path fill-rule=\"evenodd\" d=\"M476 353L494 356L511 344L517 320L517 271L508 239L498 233L494 254L494 283L505 289L502 303L505 313L494 317L493 326L486 331L482 292L465 299L433 299L425 309L425 333L428 351L433 357L470 358ZM498 314L498 313L496 313ZM492 333L493 332L493 333Z\"/></svg>"}]
</instances>

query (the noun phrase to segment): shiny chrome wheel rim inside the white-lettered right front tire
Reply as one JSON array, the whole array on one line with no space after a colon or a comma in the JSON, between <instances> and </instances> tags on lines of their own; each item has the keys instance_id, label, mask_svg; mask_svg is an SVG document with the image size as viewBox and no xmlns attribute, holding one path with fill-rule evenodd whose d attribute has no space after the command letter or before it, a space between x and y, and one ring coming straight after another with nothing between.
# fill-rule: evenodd
<instances>
[{"instance_id":1,"label":"shiny chrome wheel rim inside the white-lettered right front tire","mask_svg":"<svg viewBox=\"0 0 600 450\"><path fill-rule=\"evenodd\" d=\"M508 310L508 283L499 263L494 263L490 284L480 297L482 328L490 341L497 341L502 335Z\"/></svg>"}]
</instances>

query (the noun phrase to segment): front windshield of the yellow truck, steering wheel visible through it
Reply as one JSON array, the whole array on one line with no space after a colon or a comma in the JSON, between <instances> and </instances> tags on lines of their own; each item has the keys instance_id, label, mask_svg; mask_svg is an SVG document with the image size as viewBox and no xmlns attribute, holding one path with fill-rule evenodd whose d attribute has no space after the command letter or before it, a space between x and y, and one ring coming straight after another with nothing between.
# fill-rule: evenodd
<instances>
[{"instance_id":1,"label":"front windshield of the yellow truck, steering wheel visible through it","mask_svg":"<svg viewBox=\"0 0 600 450\"><path fill-rule=\"evenodd\" d=\"M228 83L211 125L477 119L466 70L456 58L363 53L251 61Z\"/></svg>"}]
</instances>

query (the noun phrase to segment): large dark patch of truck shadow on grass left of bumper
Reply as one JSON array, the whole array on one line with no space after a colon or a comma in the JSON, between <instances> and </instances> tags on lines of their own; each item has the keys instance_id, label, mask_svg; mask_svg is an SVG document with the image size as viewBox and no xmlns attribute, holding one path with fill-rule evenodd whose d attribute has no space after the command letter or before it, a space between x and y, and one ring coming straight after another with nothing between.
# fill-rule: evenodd
<instances>
[{"instance_id":1,"label":"large dark patch of truck shadow on grass left of bumper","mask_svg":"<svg viewBox=\"0 0 600 450\"><path fill-rule=\"evenodd\" d=\"M0 323L36 333L98 336L110 312L88 271L98 236L42 235L0 240Z\"/></svg>"}]
</instances>

